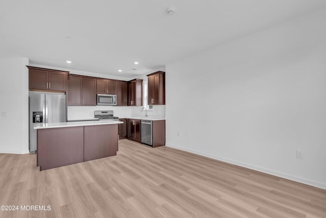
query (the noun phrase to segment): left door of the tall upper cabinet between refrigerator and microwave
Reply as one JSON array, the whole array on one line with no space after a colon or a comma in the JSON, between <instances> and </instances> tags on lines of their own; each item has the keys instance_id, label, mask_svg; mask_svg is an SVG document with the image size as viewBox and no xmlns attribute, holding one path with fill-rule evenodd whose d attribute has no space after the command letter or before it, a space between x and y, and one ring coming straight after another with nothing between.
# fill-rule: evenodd
<instances>
[{"instance_id":1,"label":"left door of the tall upper cabinet between refrigerator and microwave","mask_svg":"<svg viewBox=\"0 0 326 218\"><path fill-rule=\"evenodd\" d=\"M68 76L67 105L83 105L82 85L82 77Z\"/></svg>"}]
</instances>

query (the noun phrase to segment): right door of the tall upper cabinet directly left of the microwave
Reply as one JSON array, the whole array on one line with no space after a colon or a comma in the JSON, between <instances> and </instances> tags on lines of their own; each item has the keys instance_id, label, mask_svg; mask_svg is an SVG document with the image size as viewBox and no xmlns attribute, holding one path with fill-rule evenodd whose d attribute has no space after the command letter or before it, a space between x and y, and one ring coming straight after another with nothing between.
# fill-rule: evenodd
<instances>
[{"instance_id":1,"label":"right door of the tall upper cabinet directly left of the microwave","mask_svg":"<svg viewBox=\"0 0 326 218\"><path fill-rule=\"evenodd\" d=\"M96 79L83 78L83 105L96 105Z\"/></svg>"}]
</instances>

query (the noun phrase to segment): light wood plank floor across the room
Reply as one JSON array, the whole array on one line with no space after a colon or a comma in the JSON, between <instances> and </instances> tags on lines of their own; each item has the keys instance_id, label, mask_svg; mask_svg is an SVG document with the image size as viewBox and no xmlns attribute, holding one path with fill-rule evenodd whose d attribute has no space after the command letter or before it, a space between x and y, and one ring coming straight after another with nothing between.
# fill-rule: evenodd
<instances>
[{"instance_id":1,"label":"light wood plank floor across the room","mask_svg":"<svg viewBox=\"0 0 326 218\"><path fill-rule=\"evenodd\" d=\"M326 217L326 190L127 139L117 156L39 172L0 154L0 217Z\"/></svg>"}]
</instances>

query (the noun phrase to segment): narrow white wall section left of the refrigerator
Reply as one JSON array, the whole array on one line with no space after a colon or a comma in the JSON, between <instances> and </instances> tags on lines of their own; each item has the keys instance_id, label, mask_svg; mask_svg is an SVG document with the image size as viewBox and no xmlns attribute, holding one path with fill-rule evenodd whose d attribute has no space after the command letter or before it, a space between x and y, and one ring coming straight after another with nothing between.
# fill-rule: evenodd
<instances>
[{"instance_id":1,"label":"narrow white wall section left of the refrigerator","mask_svg":"<svg viewBox=\"0 0 326 218\"><path fill-rule=\"evenodd\" d=\"M0 153L29 153L27 58L0 60Z\"/></svg>"}]
</instances>

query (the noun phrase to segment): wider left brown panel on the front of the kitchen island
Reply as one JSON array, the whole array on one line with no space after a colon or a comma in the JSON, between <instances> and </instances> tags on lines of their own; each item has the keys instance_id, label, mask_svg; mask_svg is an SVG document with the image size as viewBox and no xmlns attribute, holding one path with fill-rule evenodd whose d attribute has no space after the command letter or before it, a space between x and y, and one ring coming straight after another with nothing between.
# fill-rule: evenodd
<instances>
[{"instance_id":1,"label":"wider left brown panel on the front of the kitchen island","mask_svg":"<svg viewBox=\"0 0 326 218\"><path fill-rule=\"evenodd\" d=\"M44 169L84 161L84 127L37 130L37 165Z\"/></svg>"}]
</instances>

